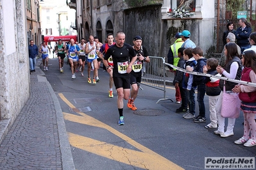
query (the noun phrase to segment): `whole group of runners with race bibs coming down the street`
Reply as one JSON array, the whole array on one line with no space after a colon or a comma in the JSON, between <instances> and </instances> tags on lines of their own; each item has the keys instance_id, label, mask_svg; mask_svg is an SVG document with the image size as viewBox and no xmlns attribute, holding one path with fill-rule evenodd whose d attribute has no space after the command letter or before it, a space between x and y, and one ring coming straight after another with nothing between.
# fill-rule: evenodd
<instances>
[{"instance_id":1,"label":"whole group of runners with race bibs coming down the street","mask_svg":"<svg viewBox=\"0 0 256 170\"><path fill-rule=\"evenodd\" d=\"M113 98L113 86L117 91L117 109L119 112L118 125L124 125L123 107L124 100L128 100L127 107L133 111L137 110L134 101L137 98L141 84L143 62L149 62L148 51L142 47L141 36L133 38L133 46L124 43L125 34L118 31L115 35L109 33L106 43L99 42L97 37L89 36L89 42L81 38L81 42L76 45L73 39L68 45L58 40L55 51L59 60L60 72L63 73L65 53L69 60L72 72L72 79L76 78L76 67L79 66L81 76L87 62L87 82L89 84L99 81L98 68L103 61L107 72L109 73L108 97ZM90 71L94 66L94 74L91 80ZM132 91L130 88L132 86Z\"/></svg>"}]
</instances>

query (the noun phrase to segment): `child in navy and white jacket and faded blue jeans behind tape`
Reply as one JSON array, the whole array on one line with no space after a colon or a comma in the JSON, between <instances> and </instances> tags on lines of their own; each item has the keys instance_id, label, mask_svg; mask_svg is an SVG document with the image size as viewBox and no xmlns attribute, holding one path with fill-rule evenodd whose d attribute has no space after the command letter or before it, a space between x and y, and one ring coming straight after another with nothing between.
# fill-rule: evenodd
<instances>
[{"instance_id":1,"label":"child in navy and white jacket and faded blue jeans behind tape","mask_svg":"<svg viewBox=\"0 0 256 170\"><path fill-rule=\"evenodd\" d=\"M183 59L185 60L184 68L192 68L196 66L196 60L193 58L192 48L183 50ZM182 88L187 89L187 101L189 102L189 112L183 114L184 119L194 118L195 114L195 101L194 101L194 89L196 86L192 86L193 75L189 73L183 74Z\"/></svg>"}]
</instances>

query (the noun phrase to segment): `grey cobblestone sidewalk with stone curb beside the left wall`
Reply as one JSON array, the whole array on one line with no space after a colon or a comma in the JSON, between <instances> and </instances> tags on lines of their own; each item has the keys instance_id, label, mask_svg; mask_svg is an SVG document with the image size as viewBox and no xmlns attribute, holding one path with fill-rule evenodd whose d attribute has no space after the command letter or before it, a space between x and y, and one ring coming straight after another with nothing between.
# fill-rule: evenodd
<instances>
[{"instance_id":1,"label":"grey cobblestone sidewalk with stone curb beside the left wall","mask_svg":"<svg viewBox=\"0 0 256 170\"><path fill-rule=\"evenodd\" d=\"M74 169L60 104L41 75L31 73L30 98L0 147L0 169Z\"/></svg>"}]
</instances>

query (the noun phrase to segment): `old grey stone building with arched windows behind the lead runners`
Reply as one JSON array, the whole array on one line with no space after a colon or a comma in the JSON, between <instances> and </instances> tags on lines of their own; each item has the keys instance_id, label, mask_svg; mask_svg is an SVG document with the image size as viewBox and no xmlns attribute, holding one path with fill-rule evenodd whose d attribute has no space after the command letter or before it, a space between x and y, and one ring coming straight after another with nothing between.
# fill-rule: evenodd
<instances>
[{"instance_id":1,"label":"old grey stone building with arched windows behind the lead runners","mask_svg":"<svg viewBox=\"0 0 256 170\"><path fill-rule=\"evenodd\" d=\"M98 36L103 42L107 33L122 30L126 33L126 43L132 44L133 36L140 35L150 56L167 58L169 46L175 42L176 32L188 29L191 31L191 40L206 52L215 43L214 1L195 0L192 10L194 15L185 19L169 17L170 9L177 7L176 3L163 0L157 1L157 4L128 8L125 1L73 1L76 9L82 12L83 22L77 26L80 35L85 38L89 35Z\"/></svg>"}]
</instances>

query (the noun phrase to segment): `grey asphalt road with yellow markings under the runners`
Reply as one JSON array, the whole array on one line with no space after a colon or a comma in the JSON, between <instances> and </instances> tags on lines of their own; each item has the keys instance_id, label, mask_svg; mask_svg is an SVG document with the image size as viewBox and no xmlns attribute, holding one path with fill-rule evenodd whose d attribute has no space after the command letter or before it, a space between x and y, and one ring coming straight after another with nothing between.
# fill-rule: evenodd
<instances>
[{"instance_id":1,"label":"grey asphalt road with yellow markings under the runners","mask_svg":"<svg viewBox=\"0 0 256 170\"><path fill-rule=\"evenodd\" d=\"M76 169L205 169L205 157L256 155L254 147L234 144L243 135L242 113L234 135L222 138L213 134L215 129L204 128L209 112L207 123L185 120L175 113L179 104L156 104L163 91L142 84L135 100L138 110L128 109L124 101L125 125L119 126L115 90L114 98L108 98L107 72L100 68L100 81L94 85L87 83L87 72L71 79L69 65L60 73L57 59L49 64L44 72L62 107ZM174 87L166 88L166 98L175 100ZM208 102L205 96L207 111Z\"/></svg>"}]
</instances>

